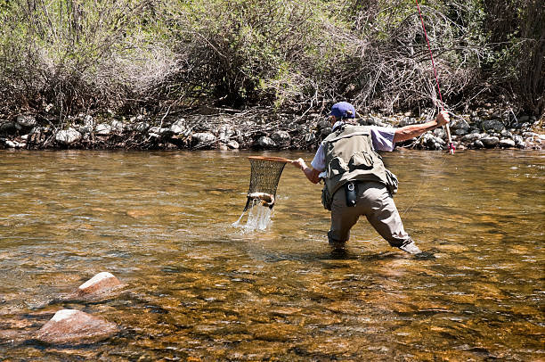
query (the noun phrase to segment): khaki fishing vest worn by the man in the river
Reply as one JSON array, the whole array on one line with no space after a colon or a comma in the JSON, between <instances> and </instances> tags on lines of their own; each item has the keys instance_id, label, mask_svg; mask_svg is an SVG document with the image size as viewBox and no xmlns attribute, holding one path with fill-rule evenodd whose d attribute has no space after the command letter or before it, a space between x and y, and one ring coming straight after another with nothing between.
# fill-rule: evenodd
<instances>
[{"instance_id":1,"label":"khaki fishing vest worn by the man in the river","mask_svg":"<svg viewBox=\"0 0 545 362\"><path fill-rule=\"evenodd\" d=\"M326 176L321 203L331 210L333 194L350 181L374 181L386 185L392 194L397 192L397 177L384 166L375 152L370 128L343 125L323 140Z\"/></svg>"}]
</instances>

